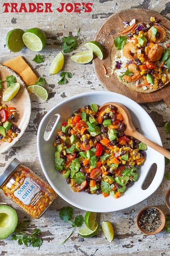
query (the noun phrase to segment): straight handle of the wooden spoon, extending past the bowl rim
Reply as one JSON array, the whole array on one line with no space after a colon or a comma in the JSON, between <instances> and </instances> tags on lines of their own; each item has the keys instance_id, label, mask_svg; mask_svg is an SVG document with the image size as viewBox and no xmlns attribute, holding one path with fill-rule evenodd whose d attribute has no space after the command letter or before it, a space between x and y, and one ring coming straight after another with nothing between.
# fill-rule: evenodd
<instances>
[{"instance_id":1,"label":"straight handle of the wooden spoon, extending past the bowl rim","mask_svg":"<svg viewBox=\"0 0 170 256\"><path fill-rule=\"evenodd\" d=\"M159 152L160 154L164 155L168 159L170 159L170 152L168 150L166 150L165 148L163 148L160 145L156 144L155 142L152 142L152 140L146 138L141 133L138 133L136 130L134 130L132 136L134 138L140 140L141 142L145 143L147 146L155 149L157 152Z\"/></svg>"}]
</instances>

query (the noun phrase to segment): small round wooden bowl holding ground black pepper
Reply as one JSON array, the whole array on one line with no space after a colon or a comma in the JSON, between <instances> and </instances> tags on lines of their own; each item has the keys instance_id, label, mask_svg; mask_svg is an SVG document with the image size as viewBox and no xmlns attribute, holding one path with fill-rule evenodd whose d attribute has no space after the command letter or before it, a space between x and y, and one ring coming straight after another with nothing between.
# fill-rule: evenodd
<instances>
[{"instance_id":1,"label":"small round wooden bowl holding ground black pepper","mask_svg":"<svg viewBox=\"0 0 170 256\"><path fill-rule=\"evenodd\" d=\"M161 222L162 222L162 223L161 223L161 225L159 226L159 228L157 228L154 232L147 232L145 229L141 228L140 225L138 224L139 218L140 218L140 216L141 216L141 213L142 213L143 211L149 209L149 208L155 208L155 209L157 209L157 210L160 212L160 214L161 214L160 219L161 219ZM159 232L164 228L164 226L165 226L165 221L166 221L166 220L165 220L165 214L164 214L164 212L161 211L160 208L158 208L158 207L156 207L156 206L147 206L147 207L143 208L143 209L138 213L138 215L137 215L137 220L136 220L136 221L137 221L137 226L138 226L138 228L141 230L142 233L144 233L144 234L146 234L146 235L155 235L155 234L159 233Z\"/></svg>"}]
</instances>

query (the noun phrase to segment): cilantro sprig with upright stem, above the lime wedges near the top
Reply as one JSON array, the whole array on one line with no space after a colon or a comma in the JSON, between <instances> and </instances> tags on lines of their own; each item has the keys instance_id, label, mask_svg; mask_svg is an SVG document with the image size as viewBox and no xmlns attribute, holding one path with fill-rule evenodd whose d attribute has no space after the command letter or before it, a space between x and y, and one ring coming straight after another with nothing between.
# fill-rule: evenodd
<instances>
[{"instance_id":1,"label":"cilantro sprig with upright stem, above the lime wedges near the top","mask_svg":"<svg viewBox=\"0 0 170 256\"><path fill-rule=\"evenodd\" d=\"M76 50L77 49L77 45L78 45L77 38L79 36L79 32L80 32L80 28L77 31L76 37L64 36L62 38L63 44L61 45L61 48L63 50L63 53L70 53L72 50Z\"/></svg>"}]
</instances>

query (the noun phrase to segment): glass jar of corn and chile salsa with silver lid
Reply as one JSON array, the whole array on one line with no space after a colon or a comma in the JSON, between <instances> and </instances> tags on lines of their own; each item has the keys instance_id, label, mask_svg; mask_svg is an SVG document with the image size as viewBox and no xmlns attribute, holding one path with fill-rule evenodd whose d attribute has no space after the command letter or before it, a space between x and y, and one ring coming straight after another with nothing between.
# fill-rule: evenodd
<instances>
[{"instance_id":1,"label":"glass jar of corn and chile salsa with silver lid","mask_svg":"<svg viewBox=\"0 0 170 256\"><path fill-rule=\"evenodd\" d=\"M39 219L57 197L46 182L16 158L0 175L0 188L34 219Z\"/></svg>"}]
</instances>

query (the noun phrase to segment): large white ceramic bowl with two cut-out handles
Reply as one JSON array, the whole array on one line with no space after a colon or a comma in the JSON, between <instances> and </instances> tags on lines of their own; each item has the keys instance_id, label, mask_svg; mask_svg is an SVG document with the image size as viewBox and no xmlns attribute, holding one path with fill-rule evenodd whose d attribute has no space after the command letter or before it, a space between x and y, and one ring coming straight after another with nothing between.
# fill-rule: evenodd
<instances>
[{"instance_id":1,"label":"large white ceramic bowl with two cut-out handles","mask_svg":"<svg viewBox=\"0 0 170 256\"><path fill-rule=\"evenodd\" d=\"M146 111L133 100L121 94L112 93L110 91L95 91L73 96L53 107L42 119L37 134L37 148L39 161L42 170L52 188L65 201L82 210L93 212L111 212L122 210L133 206L145 198L149 197L159 187L164 177L165 160L164 156L154 151L150 147L147 149L147 157L144 164L140 167L138 180L132 187L129 187L123 196L114 199L113 196L104 198L100 195L90 195L85 192L73 192L66 183L66 179L54 169L55 166L55 150L53 142L55 141L57 131L61 130L61 123L67 121L74 109L82 108L86 104L96 103L102 105L107 102L119 102L125 105L132 116L135 127L139 127L140 132L162 146L160 135L156 126ZM44 132L51 118L58 114L57 121L53 126L48 139L44 139ZM157 165L156 175L151 185L142 190L143 182L153 163Z\"/></svg>"}]
</instances>

